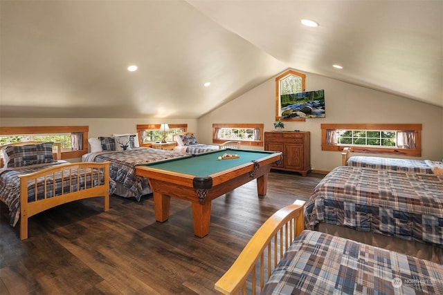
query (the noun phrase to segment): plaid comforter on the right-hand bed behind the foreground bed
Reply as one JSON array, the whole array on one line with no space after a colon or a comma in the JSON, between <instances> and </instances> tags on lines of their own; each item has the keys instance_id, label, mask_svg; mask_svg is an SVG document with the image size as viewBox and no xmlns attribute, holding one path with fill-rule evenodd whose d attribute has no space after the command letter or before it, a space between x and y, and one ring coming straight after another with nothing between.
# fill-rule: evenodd
<instances>
[{"instance_id":1,"label":"plaid comforter on the right-hand bed behind the foreground bed","mask_svg":"<svg viewBox=\"0 0 443 295\"><path fill-rule=\"evenodd\" d=\"M305 225L319 222L443 247L443 175L339 166L306 204Z\"/></svg>"}]
</instances>

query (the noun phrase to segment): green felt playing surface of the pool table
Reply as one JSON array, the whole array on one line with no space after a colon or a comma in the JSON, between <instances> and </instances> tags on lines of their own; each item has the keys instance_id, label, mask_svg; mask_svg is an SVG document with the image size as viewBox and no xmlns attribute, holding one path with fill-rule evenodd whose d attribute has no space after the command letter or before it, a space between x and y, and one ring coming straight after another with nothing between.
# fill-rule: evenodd
<instances>
[{"instance_id":1,"label":"green felt playing surface of the pool table","mask_svg":"<svg viewBox=\"0 0 443 295\"><path fill-rule=\"evenodd\" d=\"M218 160L224 153L239 155L239 158ZM147 166L165 171L172 171L183 174L195 175L196 177L206 177L214 173L232 169L235 166L259 160L273 154L271 151L251 151L251 150L218 150L208 153L190 155L185 158L174 158L161 162L152 162L140 166Z\"/></svg>"}]
</instances>

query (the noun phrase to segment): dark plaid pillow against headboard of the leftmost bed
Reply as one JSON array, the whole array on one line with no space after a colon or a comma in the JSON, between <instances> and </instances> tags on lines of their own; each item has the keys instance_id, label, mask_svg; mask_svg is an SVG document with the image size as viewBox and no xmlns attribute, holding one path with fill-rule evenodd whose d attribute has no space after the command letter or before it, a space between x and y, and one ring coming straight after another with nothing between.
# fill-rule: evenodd
<instances>
[{"instance_id":1,"label":"dark plaid pillow against headboard of the leftmost bed","mask_svg":"<svg viewBox=\"0 0 443 295\"><path fill-rule=\"evenodd\" d=\"M6 146L3 149L3 162L5 168L56 162L53 156L53 142Z\"/></svg>"}]
</instances>

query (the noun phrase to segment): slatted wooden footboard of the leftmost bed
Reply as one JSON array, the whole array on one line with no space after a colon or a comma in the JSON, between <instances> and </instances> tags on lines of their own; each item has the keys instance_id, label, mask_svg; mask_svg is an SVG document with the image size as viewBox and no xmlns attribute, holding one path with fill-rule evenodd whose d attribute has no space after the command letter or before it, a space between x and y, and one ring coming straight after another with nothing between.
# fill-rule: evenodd
<instances>
[{"instance_id":1,"label":"slatted wooden footboard of the leftmost bed","mask_svg":"<svg viewBox=\"0 0 443 295\"><path fill-rule=\"evenodd\" d=\"M59 176L63 185L56 180ZM103 211L109 210L109 162L60 164L19 178L21 240L28 238L28 218L60 204L102 196ZM33 200L29 200L28 187L38 192Z\"/></svg>"}]
</instances>

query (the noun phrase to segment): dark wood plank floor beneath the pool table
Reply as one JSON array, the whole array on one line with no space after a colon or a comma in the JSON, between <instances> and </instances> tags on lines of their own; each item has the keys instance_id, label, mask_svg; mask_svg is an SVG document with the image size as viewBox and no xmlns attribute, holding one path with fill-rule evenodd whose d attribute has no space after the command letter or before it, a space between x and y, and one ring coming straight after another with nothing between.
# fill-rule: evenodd
<instances>
[{"instance_id":1,"label":"dark wood plank floor beneath the pool table","mask_svg":"<svg viewBox=\"0 0 443 295\"><path fill-rule=\"evenodd\" d=\"M1 204L0 294L217 294L214 283L275 211L307 200L323 175L271 172L268 193L249 182L213 201L210 234L192 234L191 204L171 198L154 220L152 196L71 202L29 222L18 238Z\"/></svg>"}]
</instances>

